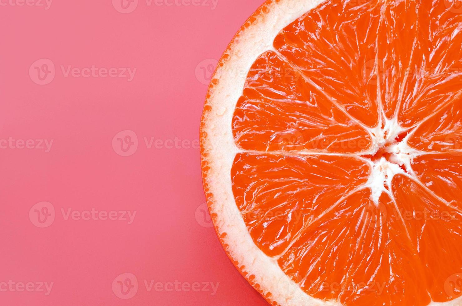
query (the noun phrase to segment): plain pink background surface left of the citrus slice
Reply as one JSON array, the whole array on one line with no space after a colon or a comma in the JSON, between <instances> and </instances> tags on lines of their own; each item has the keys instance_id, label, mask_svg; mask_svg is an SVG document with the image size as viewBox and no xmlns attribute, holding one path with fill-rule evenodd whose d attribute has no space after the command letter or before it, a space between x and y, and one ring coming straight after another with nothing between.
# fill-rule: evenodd
<instances>
[{"instance_id":1,"label":"plain pink background surface left of the citrus slice","mask_svg":"<svg viewBox=\"0 0 462 306\"><path fill-rule=\"evenodd\" d=\"M263 0L120 1L0 2L0 305L266 305L198 150L208 71Z\"/></svg>"}]
</instances>

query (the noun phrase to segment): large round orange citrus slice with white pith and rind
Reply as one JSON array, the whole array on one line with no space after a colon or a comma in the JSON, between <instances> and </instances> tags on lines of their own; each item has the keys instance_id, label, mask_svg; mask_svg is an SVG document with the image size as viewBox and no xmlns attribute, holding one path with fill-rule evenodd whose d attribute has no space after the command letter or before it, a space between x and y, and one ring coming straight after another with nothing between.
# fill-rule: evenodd
<instances>
[{"instance_id":1,"label":"large round orange citrus slice with white pith and rind","mask_svg":"<svg viewBox=\"0 0 462 306\"><path fill-rule=\"evenodd\" d=\"M272 305L462 305L462 3L269 0L219 61L204 189Z\"/></svg>"}]
</instances>

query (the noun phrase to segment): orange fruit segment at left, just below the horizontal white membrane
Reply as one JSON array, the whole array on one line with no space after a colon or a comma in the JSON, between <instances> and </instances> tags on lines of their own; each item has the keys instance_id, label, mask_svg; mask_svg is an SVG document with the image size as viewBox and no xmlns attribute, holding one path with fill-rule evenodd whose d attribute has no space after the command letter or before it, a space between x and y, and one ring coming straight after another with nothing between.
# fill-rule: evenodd
<instances>
[{"instance_id":1,"label":"orange fruit segment at left, just below the horizontal white membrane","mask_svg":"<svg viewBox=\"0 0 462 306\"><path fill-rule=\"evenodd\" d=\"M275 256L342 194L365 184L367 172L364 162L351 157L243 153L231 175L250 234Z\"/></svg>"}]
</instances>

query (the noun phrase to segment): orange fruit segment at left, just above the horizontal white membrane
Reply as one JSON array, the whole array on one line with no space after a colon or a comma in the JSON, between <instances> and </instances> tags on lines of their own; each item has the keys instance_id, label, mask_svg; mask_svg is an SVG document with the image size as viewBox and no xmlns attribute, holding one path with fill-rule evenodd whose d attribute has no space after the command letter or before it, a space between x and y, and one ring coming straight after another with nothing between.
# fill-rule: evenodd
<instances>
[{"instance_id":1,"label":"orange fruit segment at left, just above the horizontal white membrane","mask_svg":"<svg viewBox=\"0 0 462 306\"><path fill-rule=\"evenodd\" d=\"M367 148L367 131L295 69L273 51L255 61L234 113L237 145L257 151L337 153L357 152L358 145Z\"/></svg>"}]
</instances>

